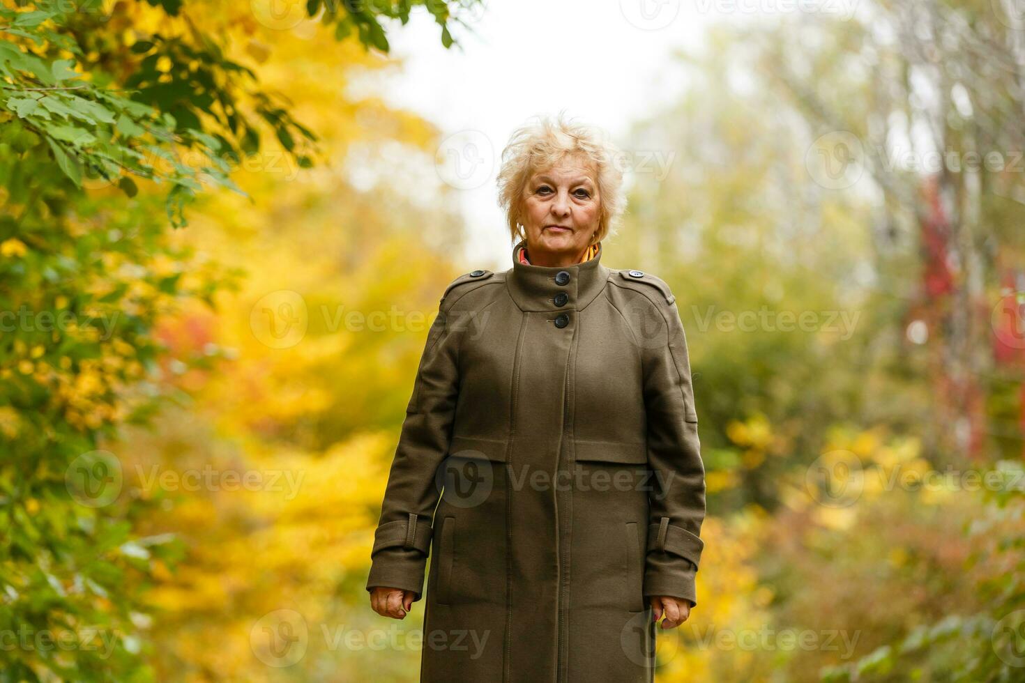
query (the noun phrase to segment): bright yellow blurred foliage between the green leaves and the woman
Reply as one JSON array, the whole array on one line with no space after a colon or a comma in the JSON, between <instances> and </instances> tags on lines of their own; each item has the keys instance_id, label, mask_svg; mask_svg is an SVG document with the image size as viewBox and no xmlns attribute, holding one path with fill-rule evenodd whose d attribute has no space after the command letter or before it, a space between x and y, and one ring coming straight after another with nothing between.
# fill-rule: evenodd
<instances>
[{"instance_id":1,"label":"bright yellow blurred foliage between the green leaves and the woman","mask_svg":"<svg viewBox=\"0 0 1025 683\"><path fill-rule=\"evenodd\" d=\"M138 532L186 546L148 593L149 663L165 680L410 680L422 610L385 620L364 582L423 340L457 274L457 191L435 171L441 131L350 87L394 63L324 34L253 39L271 46L261 82L318 131L325 162L259 155L233 175L251 200L204 197L173 236L244 273L213 310L159 326L168 355L210 360L169 378L189 402L105 446L152 506ZM272 640L301 625L294 649Z\"/></svg>"}]
</instances>

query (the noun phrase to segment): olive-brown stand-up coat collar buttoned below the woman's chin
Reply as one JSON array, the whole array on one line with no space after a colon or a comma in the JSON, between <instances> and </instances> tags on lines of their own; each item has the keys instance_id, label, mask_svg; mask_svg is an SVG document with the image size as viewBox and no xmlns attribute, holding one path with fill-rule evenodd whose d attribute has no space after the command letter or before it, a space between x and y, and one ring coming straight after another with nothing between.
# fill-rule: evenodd
<instances>
[{"instance_id":1,"label":"olive-brown stand-up coat collar buttoned below the woman's chin","mask_svg":"<svg viewBox=\"0 0 1025 683\"><path fill-rule=\"evenodd\" d=\"M605 288L610 270L601 263L605 249L601 244L590 260L556 267L521 263L520 248L526 246L522 241L512 248L512 268L505 279L520 310L579 310Z\"/></svg>"}]
</instances>

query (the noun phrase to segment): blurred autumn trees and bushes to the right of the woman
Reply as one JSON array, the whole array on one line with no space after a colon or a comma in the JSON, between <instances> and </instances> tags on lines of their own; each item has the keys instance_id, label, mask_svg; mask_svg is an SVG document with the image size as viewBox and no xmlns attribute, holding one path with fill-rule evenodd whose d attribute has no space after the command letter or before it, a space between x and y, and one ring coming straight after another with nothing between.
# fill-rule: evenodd
<instances>
[{"instance_id":1,"label":"blurred autumn trees and bushes to the right of the woman","mask_svg":"<svg viewBox=\"0 0 1025 683\"><path fill-rule=\"evenodd\" d=\"M865 631L844 656L712 649L688 673L1017 680L1025 25L1011 4L722 28L673 66L681 101L634 132L617 255L676 293L709 514L732 530L751 504L772 513L747 589L761 628ZM831 507L813 475L844 457L864 490ZM921 486L948 466L953 482Z\"/></svg>"}]
</instances>

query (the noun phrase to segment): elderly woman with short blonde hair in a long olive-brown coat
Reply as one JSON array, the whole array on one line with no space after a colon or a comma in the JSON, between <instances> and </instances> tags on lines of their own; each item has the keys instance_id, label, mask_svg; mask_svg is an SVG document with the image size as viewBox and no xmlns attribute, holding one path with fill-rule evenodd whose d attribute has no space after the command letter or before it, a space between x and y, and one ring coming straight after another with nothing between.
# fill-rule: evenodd
<instances>
[{"instance_id":1,"label":"elderly woman with short blonde hair in a long olive-brown coat","mask_svg":"<svg viewBox=\"0 0 1025 683\"><path fill-rule=\"evenodd\" d=\"M512 267L448 286L367 590L403 618L429 552L421 681L650 681L697 603L704 467L669 287L602 265L617 152L541 119L502 154Z\"/></svg>"}]
</instances>

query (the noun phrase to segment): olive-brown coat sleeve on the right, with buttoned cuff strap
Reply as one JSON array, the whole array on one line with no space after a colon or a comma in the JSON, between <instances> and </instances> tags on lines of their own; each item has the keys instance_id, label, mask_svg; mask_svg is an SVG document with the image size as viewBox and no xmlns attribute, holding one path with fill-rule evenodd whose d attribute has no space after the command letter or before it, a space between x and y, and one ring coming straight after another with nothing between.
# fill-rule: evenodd
<instances>
[{"instance_id":1,"label":"olive-brown coat sleeve on the right, with buttoned cuff strap","mask_svg":"<svg viewBox=\"0 0 1025 683\"><path fill-rule=\"evenodd\" d=\"M650 314L642 344L648 465L654 476L644 593L696 605L705 480L687 338L674 301L660 301Z\"/></svg>"}]
</instances>

